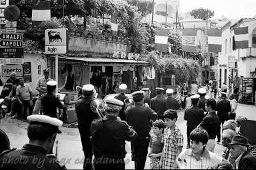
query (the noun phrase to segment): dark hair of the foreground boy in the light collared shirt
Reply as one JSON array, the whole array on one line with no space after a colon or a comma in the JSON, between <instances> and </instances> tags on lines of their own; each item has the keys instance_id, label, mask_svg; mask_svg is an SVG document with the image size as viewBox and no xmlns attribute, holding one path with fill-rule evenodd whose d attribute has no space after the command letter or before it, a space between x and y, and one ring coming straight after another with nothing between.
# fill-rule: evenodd
<instances>
[{"instance_id":1,"label":"dark hair of the foreground boy in the light collared shirt","mask_svg":"<svg viewBox=\"0 0 256 170\"><path fill-rule=\"evenodd\" d=\"M207 131L204 130L204 128L195 128L194 130L192 130L192 132L190 132L189 138L191 141L196 141L196 143L201 142L203 144L207 144L209 140L209 135Z\"/></svg>"}]
</instances>

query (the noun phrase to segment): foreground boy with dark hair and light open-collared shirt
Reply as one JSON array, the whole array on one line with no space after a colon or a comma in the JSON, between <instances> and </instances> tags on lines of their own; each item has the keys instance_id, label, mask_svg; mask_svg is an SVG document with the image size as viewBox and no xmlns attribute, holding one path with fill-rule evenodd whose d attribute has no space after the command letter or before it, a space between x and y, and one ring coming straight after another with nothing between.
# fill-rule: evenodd
<instances>
[{"instance_id":1,"label":"foreground boy with dark hair and light open-collared shirt","mask_svg":"<svg viewBox=\"0 0 256 170\"><path fill-rule=\"evenodd\" d=\"M195 128L189 138L191 148L183 150L176 160L179 169L209 169L223 161L205 147L209 136L204 128Z\"/></svg>"}]
</instances>

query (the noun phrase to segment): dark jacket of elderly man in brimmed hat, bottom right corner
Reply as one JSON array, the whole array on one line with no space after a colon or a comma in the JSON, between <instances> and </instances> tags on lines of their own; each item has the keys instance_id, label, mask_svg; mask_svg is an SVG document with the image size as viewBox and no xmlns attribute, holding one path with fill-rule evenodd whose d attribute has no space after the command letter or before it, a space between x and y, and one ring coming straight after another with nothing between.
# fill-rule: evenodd
<instances>
[{"instance_id":1,"label":"dark jacket of elderly man in brimmed hat, bottom right corner","mask_svg":"<svg viewBox=\"0 0 256 170\"><path fill-rule=\"evenodd\" d=\"M256 169L256 157L249 151L244 152L239 161L238 169Z\"/></svg>"}]
</instances>

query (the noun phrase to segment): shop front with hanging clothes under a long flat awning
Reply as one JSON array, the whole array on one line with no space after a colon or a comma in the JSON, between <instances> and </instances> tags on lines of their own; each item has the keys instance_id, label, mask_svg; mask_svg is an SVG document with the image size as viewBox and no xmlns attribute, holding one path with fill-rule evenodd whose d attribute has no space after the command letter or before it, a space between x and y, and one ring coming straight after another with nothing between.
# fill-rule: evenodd
<instances>
[{"instance_id":1,"label":"shop front with hanging clothes under a long flat awning","mask_svg":"<svg viewBox=\"0 0 256 170\"><path fill-rule=\"evenodd\" d=\"M49 59L54 70L55 60ZM90 83L104 97L113 93L114 85L125 83L131 93L143 85L143 68L147 66L148 62L135 59L58 56L58 89L76 91L77 86ZM55 79L55 74L52 77Z\"/></svg>"}]
</instances>

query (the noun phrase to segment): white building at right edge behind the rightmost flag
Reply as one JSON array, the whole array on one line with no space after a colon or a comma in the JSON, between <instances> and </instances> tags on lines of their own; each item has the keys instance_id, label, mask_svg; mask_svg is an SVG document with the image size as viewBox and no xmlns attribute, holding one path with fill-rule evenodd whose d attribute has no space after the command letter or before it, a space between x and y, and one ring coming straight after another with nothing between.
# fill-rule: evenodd
<instances>
[{"instance_id":1,"label":"white building at right edge behind the rightmost flag","mask_svg":"<svg viewBox=\"0 0 256 170\"><path fill-rule=\"evenodd\" d=\"M248 48L233 49L234 40L236 40L236 38L233 40L234 28L247 26L248 34L240 36L248 40ZM256 77L256 19L241 19L234 25L228 22L221 27L221 30L222 48L218 58L220 85L227 82L227 85L232 87L239 84L239 78Z\"/></svg>"}]
</instances>

